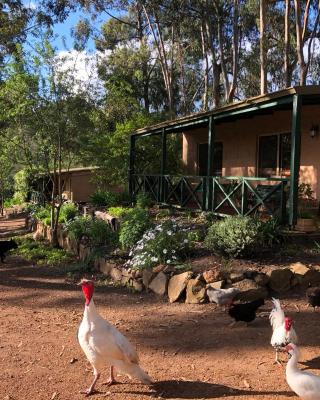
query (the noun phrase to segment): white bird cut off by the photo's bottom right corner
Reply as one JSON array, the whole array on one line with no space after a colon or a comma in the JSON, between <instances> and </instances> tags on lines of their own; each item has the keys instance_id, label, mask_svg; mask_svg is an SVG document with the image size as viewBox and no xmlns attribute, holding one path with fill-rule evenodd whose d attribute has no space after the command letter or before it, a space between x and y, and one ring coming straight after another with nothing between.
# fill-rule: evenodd
<instances>
[{"instance_id":1,"label":"white bird cut off by the photo's bottom right corner","mask_svg":"<svg viewBox=\"0 0 320 400\"><path fill-rule=\"evenodd\" d=\"M290 388L302 400L320 400L320 376L301 371L297 367L299 349L295 344L289 343L285 350L291 356L286 367L286 378Z\"/></svg>"}]
</instances>

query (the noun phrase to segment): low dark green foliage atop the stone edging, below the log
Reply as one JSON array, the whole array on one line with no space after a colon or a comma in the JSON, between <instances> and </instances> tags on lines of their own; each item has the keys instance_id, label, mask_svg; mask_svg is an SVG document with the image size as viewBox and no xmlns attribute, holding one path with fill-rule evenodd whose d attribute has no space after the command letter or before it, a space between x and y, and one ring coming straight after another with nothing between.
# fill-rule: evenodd
<instances>
[{"instance_id":1,"label":"low dark green foliage atop the stone edging, below the log","mask_svg":"<svg viewBox=\"0 0 320 400\"><path fill-rule=\"evenodd\" d=\"M76 217L66 225L66 231L76 241L82 237L88 238L93 246L115 246L118 241L117 234L107 222L91 217Z\"/></svg>"}]
</instances>

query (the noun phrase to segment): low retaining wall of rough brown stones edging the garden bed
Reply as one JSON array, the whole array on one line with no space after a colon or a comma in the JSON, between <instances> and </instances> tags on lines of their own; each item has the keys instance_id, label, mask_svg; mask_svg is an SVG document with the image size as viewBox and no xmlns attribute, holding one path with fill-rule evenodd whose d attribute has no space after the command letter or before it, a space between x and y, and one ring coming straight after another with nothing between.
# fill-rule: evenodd
<instances>
[{"instance_id":1,"label":"low retaining wall of rough brown stones edging the garden bed","mask_svg":"<svg viewBox=\"0 0 320 400\"><path fill-rule=\"evenodd\" d=\"M51 238L51 230L41 222L37 223L34 238ZM59 227L59 245L77 255L80 260L88 257L92 249L71 240ZM256 270L244 272L226 272L218 267L195 275L192 271L177 273L172 266L159 265L150 270L132 270L124 266L121 258L110 255L96 258L95 269L100 271L119 286L125 286L141 292L151 291L159 296L166 296L170 302L184 300L187 303L204 303L208 301L207 291L234 287L238 289L235 300L251 301L266 298L269 295L283 294L291 289L307 288L309 285L320 285L320 266L308 266L303 263L292 263L288 267L270 269L267 273Z\"/></svg>"}]
</instances>

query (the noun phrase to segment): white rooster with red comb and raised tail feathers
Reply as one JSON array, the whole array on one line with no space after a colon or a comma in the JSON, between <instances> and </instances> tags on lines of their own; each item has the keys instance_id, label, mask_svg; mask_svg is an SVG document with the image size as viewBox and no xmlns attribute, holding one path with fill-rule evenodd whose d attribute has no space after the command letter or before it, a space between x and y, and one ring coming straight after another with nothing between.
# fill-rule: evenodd
<instances>
[{"instance_id":1,"label":"white rooster with red comb and raised tail feathers","mask_svg":"<svg viewBox=\"0 0 320 400\"><path fill-rule=\"evenodd\" d=\"M280 364L278 352L282 350L288 343L298 343L297 334L293 328L293 321L286 317L281 308L278 299L272 299L274 308L272 309L269 319L272 326L273 334L271 337L271 346L276 350L275 362Z\"/></svg>"}]
</instances>

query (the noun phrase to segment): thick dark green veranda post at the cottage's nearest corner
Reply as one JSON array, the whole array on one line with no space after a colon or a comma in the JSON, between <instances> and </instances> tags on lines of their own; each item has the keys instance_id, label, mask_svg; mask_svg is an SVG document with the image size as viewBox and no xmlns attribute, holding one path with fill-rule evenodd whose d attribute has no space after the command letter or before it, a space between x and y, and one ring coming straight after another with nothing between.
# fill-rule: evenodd
<instances>
[{"instance_id":1,"label":"thick dark green veranda post at the cottage's nearest corner","mask_svg":"<svg viewBox=\"0 0 320 400\"><path fill-rule=\"evenodd\" d=\"M301 96L293 96L291 128L290 196L289 225L294 227L298 214L298 187L301 148Z\"/></svg>"}]
</instances>

